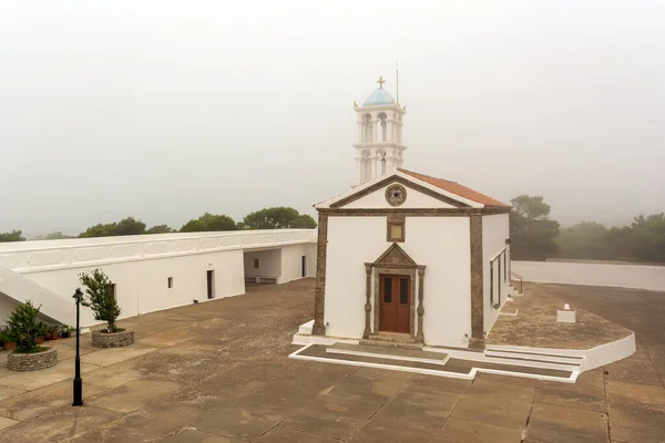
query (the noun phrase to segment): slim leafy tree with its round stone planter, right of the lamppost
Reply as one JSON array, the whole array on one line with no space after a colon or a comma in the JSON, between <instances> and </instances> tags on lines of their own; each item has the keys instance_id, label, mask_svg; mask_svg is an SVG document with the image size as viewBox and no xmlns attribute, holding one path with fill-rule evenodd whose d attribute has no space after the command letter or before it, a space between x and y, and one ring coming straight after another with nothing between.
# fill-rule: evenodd
<instances>
[{"instance_id":1,"label":"slim leafy tree with its round stone planter, right of the lamppost","mask_svg":"<svg viewBox=\"0 0 665 443\"><path fill-rule=\"evenodd\" d=\"M117 328L115 321L121 309L112 291L113 282L103 271L94 269L90 274L79 275L81 284L85 287L85 295L81 305L92 309L94 319L106 322L105 330L92 332L92 346L98 348L117 348L134 342L134 332Z\"/></svg>"}]
</instances>

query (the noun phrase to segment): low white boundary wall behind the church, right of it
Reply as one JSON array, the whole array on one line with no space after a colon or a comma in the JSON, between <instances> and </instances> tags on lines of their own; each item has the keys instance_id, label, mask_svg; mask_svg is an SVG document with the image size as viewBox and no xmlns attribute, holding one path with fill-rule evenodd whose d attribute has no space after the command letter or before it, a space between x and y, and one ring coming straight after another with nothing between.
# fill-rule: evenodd
<instances>
[{"instance_id":1,"label":"low white boundary wall behind the church, right of it","mask_svg":"<svg viewBox=\"0 0 665 443\"><path fill-rule=\"evenodd\" d=\"M512 261L524 281L665 291L665 266Z\"/></svg>"}]
</instances>

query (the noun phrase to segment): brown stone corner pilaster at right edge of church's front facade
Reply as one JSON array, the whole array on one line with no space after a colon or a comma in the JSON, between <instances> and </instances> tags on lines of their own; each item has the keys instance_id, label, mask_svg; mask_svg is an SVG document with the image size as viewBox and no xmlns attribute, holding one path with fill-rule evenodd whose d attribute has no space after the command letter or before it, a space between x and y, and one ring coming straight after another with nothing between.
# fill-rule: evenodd
<instances>
[{"instance_id":1,"label":"brown stone corner pilaster at right edge of church's front facade","mask_svg":"<svg viewBox=\"0 0 665 443\"><path fill-rule=\"evenodd\" d=\"M471 251L471 340L470 348L484 348L484 302L482 270L482 216L469 217Z\"/></svg>"}]
</instances>

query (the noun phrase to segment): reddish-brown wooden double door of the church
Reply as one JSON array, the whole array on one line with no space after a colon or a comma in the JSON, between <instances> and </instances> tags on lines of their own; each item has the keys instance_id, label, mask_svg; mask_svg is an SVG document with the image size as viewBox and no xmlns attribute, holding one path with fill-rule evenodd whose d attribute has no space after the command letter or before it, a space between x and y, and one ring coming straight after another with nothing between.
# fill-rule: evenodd
<instances>
[{"instance_id":1,"label":"reddish-brown wooden double door of the church","mask_svg":"<svg viewBox=\"0 0 665 443\"><path fill-rule=\"evenodd\" d=\"M411 278L409 276L379 276L379 330L411 332Z\"/></svg>"}]
</instances>

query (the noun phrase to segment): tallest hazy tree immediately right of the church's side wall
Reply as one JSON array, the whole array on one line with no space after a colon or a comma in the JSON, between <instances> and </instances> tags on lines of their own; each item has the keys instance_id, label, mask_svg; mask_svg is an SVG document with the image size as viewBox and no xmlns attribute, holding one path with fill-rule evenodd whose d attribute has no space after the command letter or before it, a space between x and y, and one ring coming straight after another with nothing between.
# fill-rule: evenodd
<instances>
[{"instance_id":1,"label":"tallest hazy tree immediately right of the church's side wall","mask_svg":"<svg viewBox=\"0 0 665 443\"><path fill-rule=\"evenodd\" d=\"M520 195L511 200L511 257L518 260L545 260L556 256L559 223L550 220L550 205L542 196Z\"/></svg>"}]
</instances>

